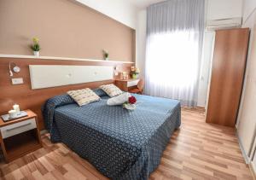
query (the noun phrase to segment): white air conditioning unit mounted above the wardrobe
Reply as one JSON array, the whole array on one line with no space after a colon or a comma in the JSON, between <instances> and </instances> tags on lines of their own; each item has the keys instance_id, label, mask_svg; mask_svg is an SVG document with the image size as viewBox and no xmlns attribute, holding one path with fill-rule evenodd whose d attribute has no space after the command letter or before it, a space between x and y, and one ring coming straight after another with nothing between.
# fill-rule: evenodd
<instances>
[{"instance_id":1,"label":"white air conditioning unit mounted above the wardrobe","mask_svg":"<svg viewBox=\"0 0 256 180\"><path fill-rule=\"evenodd\" d=\"M220 20L207 20L207 31L215 31L219 29L230 29L241 27L241 17L228 18Z\"/></svg>"}]
</instances>

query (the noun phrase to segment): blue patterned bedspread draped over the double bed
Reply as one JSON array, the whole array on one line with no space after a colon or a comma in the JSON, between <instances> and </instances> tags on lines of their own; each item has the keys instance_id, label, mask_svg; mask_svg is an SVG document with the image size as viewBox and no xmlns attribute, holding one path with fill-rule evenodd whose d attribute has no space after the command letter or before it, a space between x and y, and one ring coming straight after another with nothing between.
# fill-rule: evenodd
<instances>
[{"instance_id":1,"label":"blue patterned bedspread draped over the double bed","mask_svg":"<svg viewBox=\"0 0 256 180\"><path fill-rule=\"evenodd\" d=\"M52 142L64 142L112 179L148 179L172 132L180 126L180 103L135 95L137 109L109 107L108 96L79 107L67 95L49 99L44 123Z\"/></svg>"}]
</instances>

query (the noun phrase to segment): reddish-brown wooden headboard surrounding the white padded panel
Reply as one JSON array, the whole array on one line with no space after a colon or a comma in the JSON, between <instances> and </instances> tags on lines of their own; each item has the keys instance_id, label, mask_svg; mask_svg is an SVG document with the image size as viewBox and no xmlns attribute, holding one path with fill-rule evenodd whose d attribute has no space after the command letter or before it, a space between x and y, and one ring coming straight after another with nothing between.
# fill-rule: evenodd
<instances>
[{"instance_id":1,"label":"reddish-brown wooden headboard surrounding the white padded panel","mask_svg":"<svg viewBox=\"0 0 256 180\"><path fill-rule=\"evenodd\" d=\"M24 84L11 84L9 77L9 62L13 61L21 68L20 73L14 73L12 78L23 78ZM29 65L76 65L76 66L111 66L117 67L118 71L128 72L133 65L131 62L120 61L60 61L32 58L0 57L0 113L7 113L17 103L20 109L31 109L38 114L40 130L44 130L44 120L41 107L44 102L52 96L66 93L67 90L78 90L84 87L97 88L101 84L113 83L112 80L91 82L86 84L65 85L54 88L32 90L29 73ZM114 77L113 77L114 78Z\"/></svg>"}]
</instances>

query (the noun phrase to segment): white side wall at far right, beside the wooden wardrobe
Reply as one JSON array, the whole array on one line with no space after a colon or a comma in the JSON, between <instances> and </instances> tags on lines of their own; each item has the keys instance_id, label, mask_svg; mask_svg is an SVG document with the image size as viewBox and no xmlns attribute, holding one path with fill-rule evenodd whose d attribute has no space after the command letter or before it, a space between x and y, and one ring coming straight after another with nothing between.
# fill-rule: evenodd
<instances>
[{"instance_id":1,"label":"white side wall at far right, beside the wooden wardrobe","mask_svg":"<svg viewBox=\"0 0 256 180\"><path fill-rule=\"evenodd\" d=\"M246 158L249 158L256 126L256 1L245 0L243 12L242 26L251 29L251 36L247 55L245 82L236 127L241 148L247 155Z\"/></svg>"}]
</instances>

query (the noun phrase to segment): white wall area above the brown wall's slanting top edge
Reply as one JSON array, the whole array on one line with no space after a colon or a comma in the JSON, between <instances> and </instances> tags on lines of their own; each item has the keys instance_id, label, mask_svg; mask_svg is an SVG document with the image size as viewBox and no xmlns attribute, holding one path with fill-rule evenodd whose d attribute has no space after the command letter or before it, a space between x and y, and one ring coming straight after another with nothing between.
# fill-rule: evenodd
<instances>
[{"instance_id":1,"label":"white wall area above the brown wall's slanting top edge","mask_svg":"<svg viewBox=\"0 0 256 180\"><path fill-rule=\"evenodd\" d=\"M96 1L96 0L75 0L79 3L96 9L104 15L135 29L137 25L137 7L126 0Z\"/></svg>"}]
</instances>

